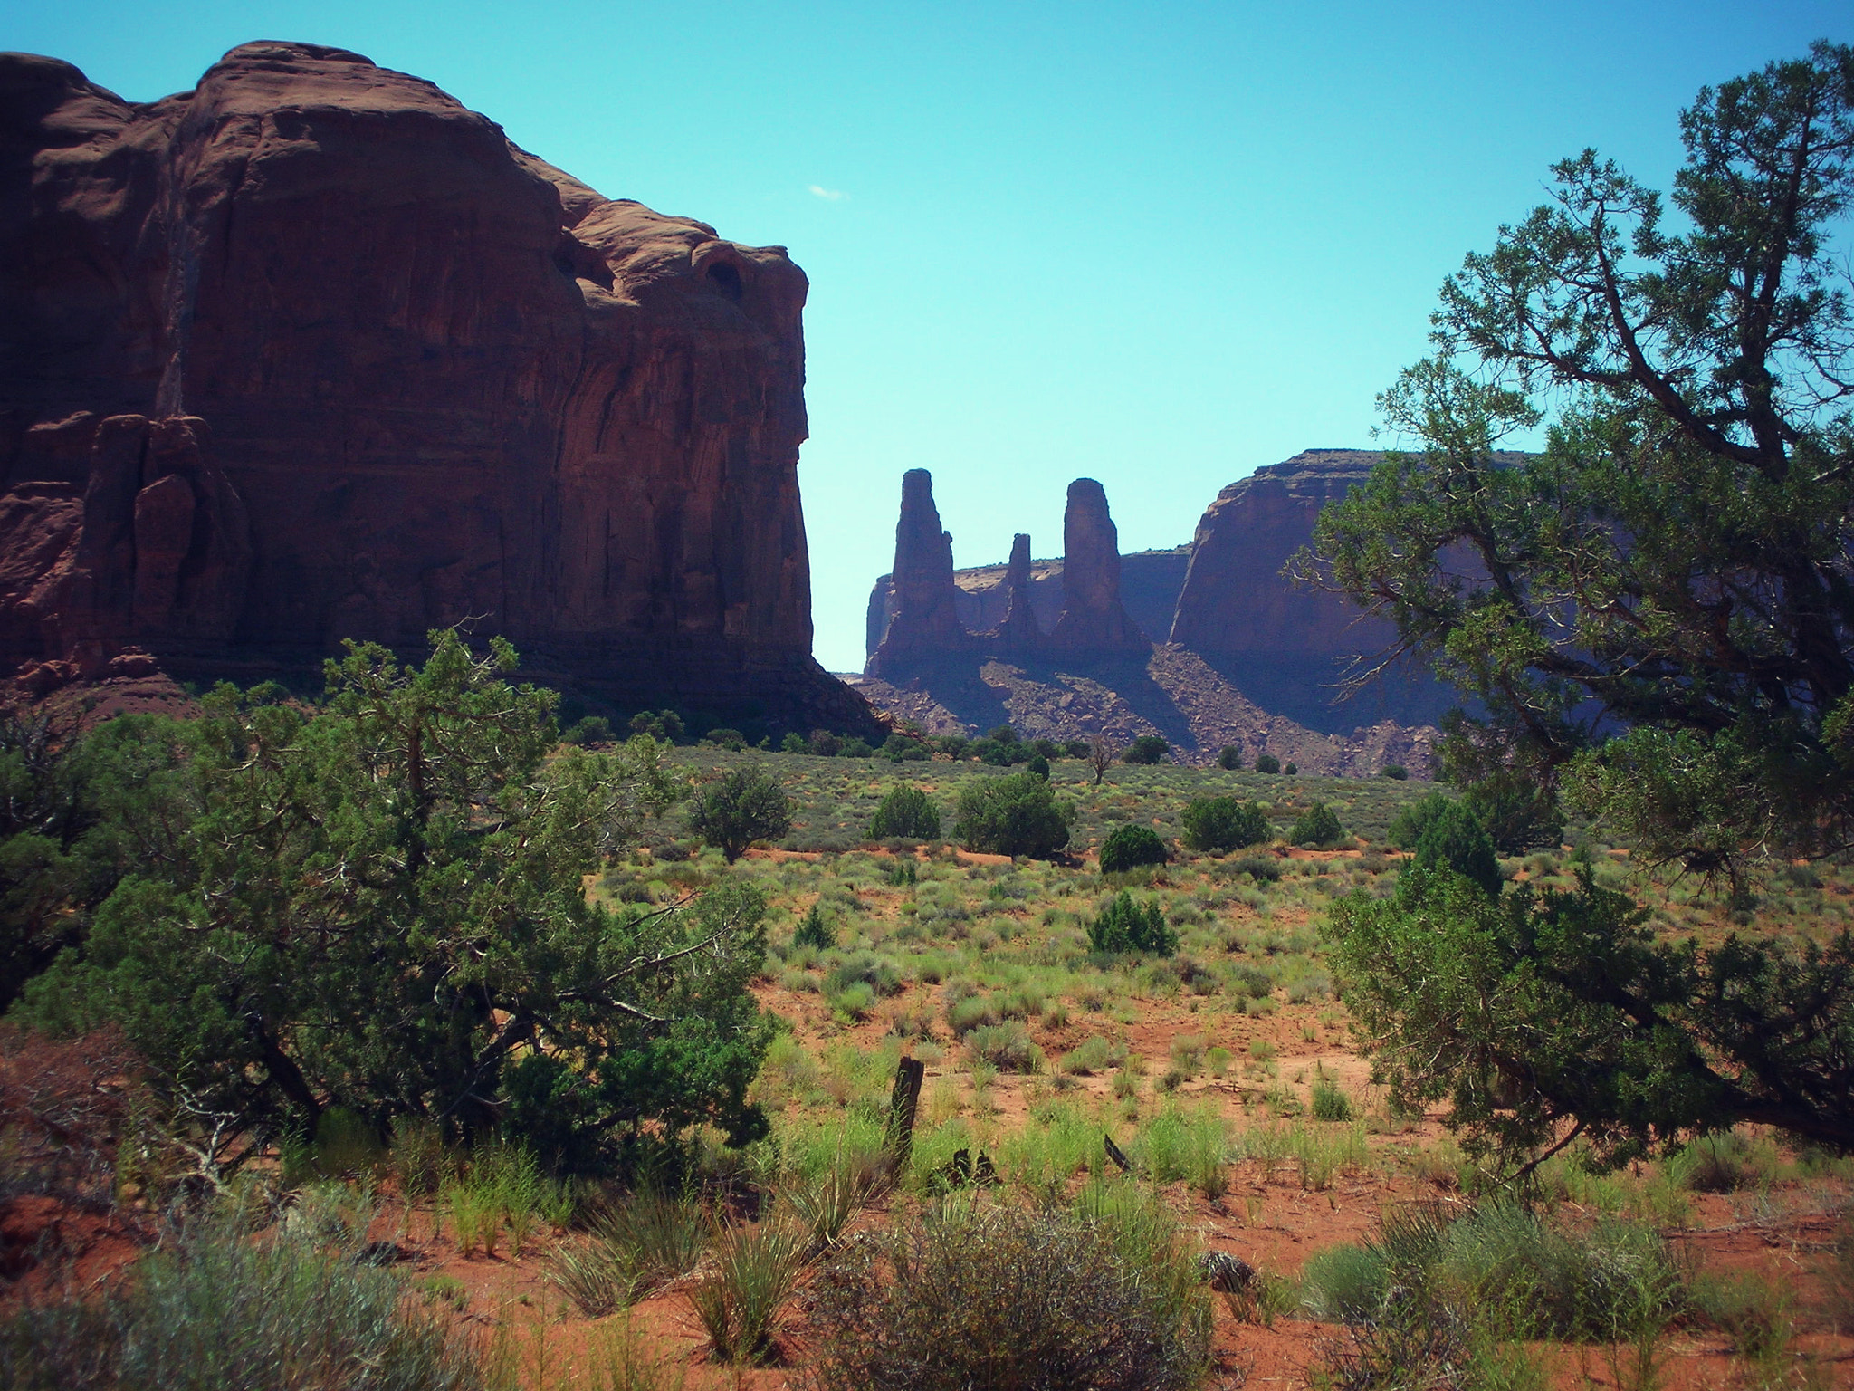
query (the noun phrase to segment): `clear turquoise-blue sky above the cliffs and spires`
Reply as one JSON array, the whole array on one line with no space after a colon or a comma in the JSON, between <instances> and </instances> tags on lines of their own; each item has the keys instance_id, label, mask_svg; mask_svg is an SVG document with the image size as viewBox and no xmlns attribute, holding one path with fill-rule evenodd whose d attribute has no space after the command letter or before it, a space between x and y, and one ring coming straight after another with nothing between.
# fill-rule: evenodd
<instances>
[{"instance_id":1,"label":"clear turquoise-blue sky above the cliffs and spires","mask_svg":"<svg viewBox=\"0 0 1854 1391\"><path fill-rule=\"evenodd\" d=\"M0 46L132 100L248 39L439 83L612 197L810 274L801 480L818 657L862 666L901 473L955 560L1060 551L1070 479L1122 549L1216 490L1370 447L1463 252L1585 145L1665 187L1702 83L1854 7L1696 4L258 4L0 0Z\"/></svg>"}]
</instances>

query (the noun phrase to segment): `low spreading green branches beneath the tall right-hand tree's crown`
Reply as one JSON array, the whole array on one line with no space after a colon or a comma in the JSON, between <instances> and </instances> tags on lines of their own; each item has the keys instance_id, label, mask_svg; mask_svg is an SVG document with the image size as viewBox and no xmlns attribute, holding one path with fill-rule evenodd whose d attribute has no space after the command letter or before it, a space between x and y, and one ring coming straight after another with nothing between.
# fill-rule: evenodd
<instances>
[{"instance_id":1,"label":"low spreading green branches beneath the tall right-hand tree's crown","mask_svg":"<svg viewBox=\"0 0 1854 1391\"><path fill-rule=\"evenodd\" d=\"M1737 1120L1854 1148L1854 940L1657 942L1585 868L1487 894L1446 864L1335 909L1346 1007L1403 1105L1450 1102L1504 1168L1581 1141L1598 1165Z\"/></svg>"}]
</instances>

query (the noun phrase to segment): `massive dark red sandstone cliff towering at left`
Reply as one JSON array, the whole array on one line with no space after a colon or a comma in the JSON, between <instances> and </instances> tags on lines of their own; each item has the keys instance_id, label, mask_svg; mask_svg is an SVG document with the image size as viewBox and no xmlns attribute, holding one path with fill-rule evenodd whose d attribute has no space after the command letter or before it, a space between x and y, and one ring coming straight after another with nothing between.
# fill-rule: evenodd
<instances>
[{"instance_id":1,"label":"massive dark red sandstone cliff towering at left","mask_svg":"<svg viewBox=\"0 0 1854 1391\"><path fill-rule=\"evenodd\" d=\"M148 106L0 57L6 484L82 493L104 419L200 417L213 477L150 499L148 534L172 549L215 479L247 529L130 556L239 586L219 629L132 621L158 655L475 619L614 696L836 699L808 657L805 291L782 249L603 198L356 54L245 45ZM11 619L0 642L61 655Z\"/></svg>"}]
</instances>

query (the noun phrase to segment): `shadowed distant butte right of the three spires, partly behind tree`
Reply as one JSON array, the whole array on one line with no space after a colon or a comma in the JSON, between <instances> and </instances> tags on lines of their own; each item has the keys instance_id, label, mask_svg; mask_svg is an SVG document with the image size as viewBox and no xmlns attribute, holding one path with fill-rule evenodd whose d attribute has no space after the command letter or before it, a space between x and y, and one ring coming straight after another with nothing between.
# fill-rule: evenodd
<instances>
[{"instance_id":1,"label":"shadowed distant butte right of the three spires, partly behind tree","mask_svg":"<svg viewBox=\"0 0 1854 1391\"><path fill-rule=\"evenodd\" d=\"M1335 705L1346 670L1385 651L1394 631L1337 593L1294 588L1281 575L1313 540L1320 508L1365 482L1381 458L1370 449L1309 449L1224 488L1192 538L1172 644L1259 705L1327 733L1385 718L1426 723L1455 705L1454 692L1411 670L1387 671Z\"/></svg>"}]
</instances>

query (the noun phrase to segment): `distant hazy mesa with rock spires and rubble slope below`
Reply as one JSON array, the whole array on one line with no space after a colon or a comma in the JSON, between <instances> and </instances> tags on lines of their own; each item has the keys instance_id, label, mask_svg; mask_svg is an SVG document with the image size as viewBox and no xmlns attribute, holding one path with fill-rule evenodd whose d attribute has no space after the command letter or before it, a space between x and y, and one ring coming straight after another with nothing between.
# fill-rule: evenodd
<instances>
[{"instance_id":1,"label":"distant hazy mesa with rock spires and rubble slope below","mask_svg":"<svg viewBox=\"0 0 1854 1391\"><path fill-rule=\"evenodd\" d=\"M884 575L870 595L862 690L929 723L984 727L1009 714L1062 734L1094 721L1125 736L1164 734L1200 760L1222 740L1307 770L1424 766L1429 725L1455 696L1428 673L1394 670L1339 699L1348 668L1389 647L1392 632L1339 595L1281 577L1313 540L1320 508L1381 458L1311 449L1257 469L1218 493L1188 545L1129 556L1092 479L1070 486L1060 560L1031 558L1029 538L1018 536L1009 564L955 571L934 512L933 534L944 542L934 631L947 632L949 608L959 631L925 638L895 577ZM897 629L907 642L890 642ZM1033 718L1038 701L1048 718Z\"/></svg>"}]
</instances>

